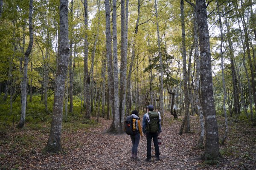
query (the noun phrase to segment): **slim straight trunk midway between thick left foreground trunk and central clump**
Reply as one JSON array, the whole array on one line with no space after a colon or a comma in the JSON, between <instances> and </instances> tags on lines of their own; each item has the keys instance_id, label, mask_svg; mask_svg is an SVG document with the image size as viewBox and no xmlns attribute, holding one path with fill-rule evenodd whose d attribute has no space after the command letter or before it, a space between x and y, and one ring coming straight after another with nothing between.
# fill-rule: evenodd
<instances>
[{"instance_id":1,"label":"slim straight trunk midway between thick left foreground trunk and central clump","mask_svg":"<svg viewBox=\"0 0 256 170\"><path fill-rule=\"evenodd\" d=\"M88 7L87 0L84 0L84 107L86 119L90 119L90 75L88 73Z\"/></svg>"}]
</instances>

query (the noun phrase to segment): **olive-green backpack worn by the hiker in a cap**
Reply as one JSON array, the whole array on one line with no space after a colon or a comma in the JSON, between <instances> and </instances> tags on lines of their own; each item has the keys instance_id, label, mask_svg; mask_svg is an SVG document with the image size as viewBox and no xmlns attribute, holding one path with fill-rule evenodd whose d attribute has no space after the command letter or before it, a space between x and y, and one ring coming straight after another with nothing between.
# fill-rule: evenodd
<instances>
[{"instance_id":1,"label":"olive-green backpack worn by the hiker in a cap","mask_svg":"<svg viewBox=\"0 0 256 170\"><path fill-rule=\"evenodd\" d=\"M159 128L159 114L155 111L148 112L150 123L147 122L147 131L157 133Z\"/></svg>"}]
</instances>

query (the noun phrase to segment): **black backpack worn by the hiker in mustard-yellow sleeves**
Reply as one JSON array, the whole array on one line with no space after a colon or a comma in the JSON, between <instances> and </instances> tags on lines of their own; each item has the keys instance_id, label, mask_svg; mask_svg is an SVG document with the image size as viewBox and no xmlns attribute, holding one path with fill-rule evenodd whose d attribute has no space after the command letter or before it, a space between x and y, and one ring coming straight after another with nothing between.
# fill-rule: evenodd
<instances>
[{"instance_id":1,"label":"black backpack worn by the hiker in mustard-yellow sleeves","mask_svg":"<svg viewBox=\"0 0 256 170\"><path fill-rule=\"evenodd\" d=\"M138 129L138 119L133 116L127 116L125 119L125 132L128 135L136 135L140 133Z\"/></svg>"}]
</instances>

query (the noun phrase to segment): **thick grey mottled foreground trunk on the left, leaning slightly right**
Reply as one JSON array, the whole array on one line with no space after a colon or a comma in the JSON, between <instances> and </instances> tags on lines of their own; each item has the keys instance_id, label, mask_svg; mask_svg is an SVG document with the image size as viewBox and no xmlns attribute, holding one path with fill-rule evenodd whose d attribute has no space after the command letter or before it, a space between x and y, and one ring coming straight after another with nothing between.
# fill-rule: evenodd
<instances>
[{"instance_id":1,"label":"thick grey mottled foreground trunk on the left, leaning slightly right","mask_svg":"<svg viewBox=\"0 0 256 170\"><path fill-rule=\"evenodd\" d=\"M69 58L68 40L68 0L60 0L60 57L55 78L55 93L52 111L52 124L45 150L57 153L61 150L61 125L63 113L63 97L67 65Z\"/></svg>"}]
</instances>

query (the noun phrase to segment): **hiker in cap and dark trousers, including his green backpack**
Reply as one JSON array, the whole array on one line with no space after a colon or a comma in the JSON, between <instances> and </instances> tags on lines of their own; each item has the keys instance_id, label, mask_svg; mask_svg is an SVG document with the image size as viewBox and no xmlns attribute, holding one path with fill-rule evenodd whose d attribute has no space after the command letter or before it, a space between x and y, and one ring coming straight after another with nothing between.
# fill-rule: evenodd
<instances>
[{"instance_id":1,"label":"hiker in cap and dark trousers, including his green backpack","mask_svg":"<svg viewBox=\"0 0 256 170\"><path fill-rule=\"evenodd\" d=\"M153 105L148 105L147 106L147 113L144 114L143 116L143 121L142 121L142 130L144 136L146 135L147 137L147 158L145 161L150 162L151 161L151 142L153 138L154 142L154 147L156 151L156 161L160 161L159 155L159 146L157 143L157 136L161 132L161 116L159 112L154 111L154 106Z\"/></svg>"}]
</instances>

